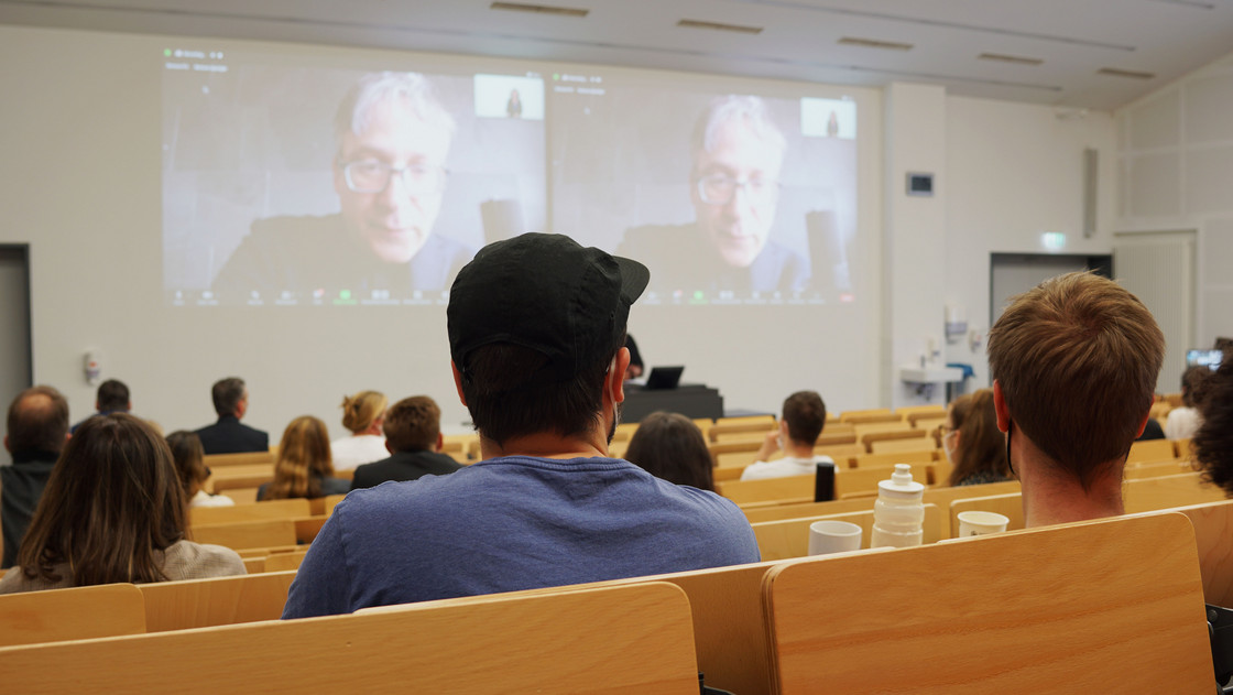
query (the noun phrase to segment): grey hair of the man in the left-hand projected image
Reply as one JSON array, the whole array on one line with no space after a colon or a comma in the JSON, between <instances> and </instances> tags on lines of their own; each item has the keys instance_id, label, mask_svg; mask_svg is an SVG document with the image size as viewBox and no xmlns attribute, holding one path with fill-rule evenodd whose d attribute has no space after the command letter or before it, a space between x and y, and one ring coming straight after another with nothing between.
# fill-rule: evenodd
<instances>
[{"instance_id":1,"label":"grey hair of the man in the left-hand projected image","mask_svg":"<svg viewBox=\"0 0 1233 695\"><path fill-rule=\"evenodd\" d=\"M334 117L334 137L342 142L348 132L360 135L372 120L372 110L386 101L401 100L417 119L454 135L456 123L441 105L436 89L419 73L369 73L343 98Z\"/></svg>"}]
</instances>

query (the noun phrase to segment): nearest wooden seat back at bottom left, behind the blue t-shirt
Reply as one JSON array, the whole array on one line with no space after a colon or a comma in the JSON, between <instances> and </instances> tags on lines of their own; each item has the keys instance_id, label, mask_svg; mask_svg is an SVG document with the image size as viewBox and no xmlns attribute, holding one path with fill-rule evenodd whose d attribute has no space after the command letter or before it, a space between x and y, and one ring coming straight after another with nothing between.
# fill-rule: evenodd
<instances>
[{"instance_id":1,"label":"nearest wooden seat back at bottom left, behind the blue t-shirt","mask_svg":"<svg viewBox=\"0 0 1233 695\"><path fill-rule=\"evenodd\" d=\"M698 693L689 601L662 581L9 647L0 673L12 693Z\"/></svg>"}]
</instances>

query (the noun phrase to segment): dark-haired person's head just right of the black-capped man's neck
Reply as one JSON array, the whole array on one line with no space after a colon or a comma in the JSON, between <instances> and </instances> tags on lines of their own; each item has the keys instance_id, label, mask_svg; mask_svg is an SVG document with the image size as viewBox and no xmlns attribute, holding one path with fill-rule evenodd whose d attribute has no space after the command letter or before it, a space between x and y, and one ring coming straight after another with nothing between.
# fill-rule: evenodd
<instances>
[{"instance_id":1,"label":"dark-haired person's head just right of the black-capped man's neck","mask_svg":"<svg viewBox=\"0 0 1233 695\"><path fill-rule=\"evenodd\" d=\"M625 460L668 483L715 490L715 463L707 439L693 420L677 412L644 417L625 449Z\"/></svg>"}]
</instances>

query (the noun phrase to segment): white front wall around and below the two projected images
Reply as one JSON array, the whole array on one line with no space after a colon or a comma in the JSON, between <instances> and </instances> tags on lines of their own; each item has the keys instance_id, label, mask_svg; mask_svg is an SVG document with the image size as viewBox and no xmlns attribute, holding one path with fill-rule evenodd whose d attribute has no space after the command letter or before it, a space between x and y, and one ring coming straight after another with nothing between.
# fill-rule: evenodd
<instances>
[{"instance_id":1,"label":"white front wall around and below the two projected images","mask_svg":"<svg viewBox=\"0 0 1233 695\"><path fill-rule=\"evenodd\" d=\"M467 415L454 395L444 310L409 321L388 307L164 305L158 57L173 41L0 26L0 242L31 244L36 383L62 389L74 420L88 415L94 388L81 363L94 348L104 377L128 383L136 411L166 430L211 422L210 385L224 375L248 381L248 421L274 439L302 414L340 436L339 401L369 388L393 397L429 394L441 404L443 426L460 430ZM413 57L372 54L393 63ZM640 317L635 309L631 316L652 363L688 364L687 380L720 388L729 407L774 411L798 388L820 390L835 409L879 400L880 95L853 91L867 102L859 175L869 193L858 233L870 241L853 259L853 277L868 291L852 328L808 312L790 321L751 312L715 335L695 325L697 315Z\"/></svg>"}]
</instances>

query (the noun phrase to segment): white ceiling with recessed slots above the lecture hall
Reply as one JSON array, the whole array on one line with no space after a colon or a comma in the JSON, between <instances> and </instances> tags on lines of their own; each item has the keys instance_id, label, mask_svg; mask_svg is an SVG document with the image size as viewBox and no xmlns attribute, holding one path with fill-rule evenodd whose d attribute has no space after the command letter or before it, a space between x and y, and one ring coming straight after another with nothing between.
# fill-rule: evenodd
<instances>
[{"instance_id":1,"label":"white ceiling with recessed slots above the lecture hall","mask_svg":"<svg viewBox=\"0 0 1233 695\"><path fill-rule=\"evenodd\" d=\"M1112 110L1233 52L1233 0L0 0L0 23L653 67ZM756 35L681 20L761 27ZM853 37L907 51L843 46ZM983 60L997 53L1038 65ZM1097 74L1101 68L1152 79Z\"/></svg>"}]
</instances>

